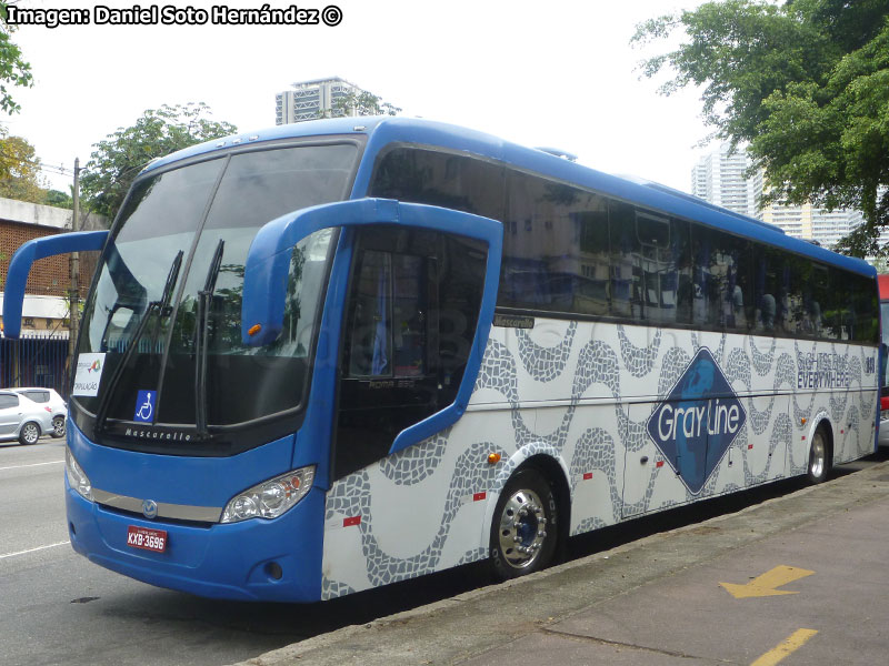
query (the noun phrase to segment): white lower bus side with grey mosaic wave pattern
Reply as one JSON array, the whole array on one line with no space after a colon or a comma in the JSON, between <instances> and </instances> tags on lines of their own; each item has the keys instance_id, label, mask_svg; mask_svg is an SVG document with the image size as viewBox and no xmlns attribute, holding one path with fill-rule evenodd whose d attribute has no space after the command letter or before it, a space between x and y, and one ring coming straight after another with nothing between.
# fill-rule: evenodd
<instances>
[{"instance_id":1,"label":"white lower bus side with grey mosaic wave pattern","mask_svg":"<svg viewBox=\"0 0 889 666\"><path fill-rule=\"evenodd\" d=\"M651 427L703 356L723 379L715 380L719 404L708 407L715 397L705 393L697 413L737 407L735 421L727 434L705 416L700 432L713 433L680 461L679 448L659 444ZM836 462L866 455L876 356L876 347L603 322L537 317L528 330L493 327L455 426L332 485L322 595L486 557L491 505L533 455L568 471L570 534L805 474L820 417L836 428ZM812 359L820 375L811 374ZM487 463L490 453L501 455L498 465ZM690 471L689 455L699 461Z\"/></svg>"}]
</instances>

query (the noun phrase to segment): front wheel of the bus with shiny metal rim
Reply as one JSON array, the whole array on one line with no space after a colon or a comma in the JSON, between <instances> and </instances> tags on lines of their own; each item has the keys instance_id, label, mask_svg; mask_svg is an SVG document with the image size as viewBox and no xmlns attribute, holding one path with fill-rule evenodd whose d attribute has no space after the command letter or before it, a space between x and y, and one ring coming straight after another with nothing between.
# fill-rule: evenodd
<instances>
[{"instance_id":1,"label":"front wheel of the bus with shiny metal rim","mask_svg":"<svg viewBox=\"0 0 889 666\"><path fill-rule=\"evenodd\" d=\"M552 487L533 467L507 482L491 521L490 564L500 581L546 567L559 541L558 503Z\"/></svg>"}]
</instances>

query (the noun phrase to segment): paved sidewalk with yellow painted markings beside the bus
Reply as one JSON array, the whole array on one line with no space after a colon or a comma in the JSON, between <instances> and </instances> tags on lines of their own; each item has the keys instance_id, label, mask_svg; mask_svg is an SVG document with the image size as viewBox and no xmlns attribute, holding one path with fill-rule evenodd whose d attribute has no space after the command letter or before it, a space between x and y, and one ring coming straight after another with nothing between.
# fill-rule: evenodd
<instances>
[{"instance_id":1,"label":"paved sidewalk with yellow painted markings beside the bus","mask_svg":"<svg viewBox=\"0 0 889 666\"><path fill-rule=\"evenodd\" d=\"M243 666L881 664L888 593L883 462Z\"/></svg>"}]
</instances>

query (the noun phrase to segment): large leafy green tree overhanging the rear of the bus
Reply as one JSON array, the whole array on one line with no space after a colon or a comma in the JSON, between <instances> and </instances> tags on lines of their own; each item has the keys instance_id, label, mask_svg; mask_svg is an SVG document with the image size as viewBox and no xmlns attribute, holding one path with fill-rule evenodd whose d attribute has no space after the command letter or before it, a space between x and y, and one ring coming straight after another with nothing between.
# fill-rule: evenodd
<instances>
[{"instance_id":1,"label":"large leafy green tree overhanging the rear of the bus","mask_svg":"<svg viewBox=\"0 0 889 666\"><path fill-rule=\"evenodd\" d=\"M713 135L749 143L765 169L763 203L811 201L861 210L865 223L838 249L886 252L889 222L889 3L886 0L721 0L651 19L632 41L683 30L642 74L671 70L660 91L702 88ZM712 137L711 137L712 138Z\"/></svg>"}]
</instances>

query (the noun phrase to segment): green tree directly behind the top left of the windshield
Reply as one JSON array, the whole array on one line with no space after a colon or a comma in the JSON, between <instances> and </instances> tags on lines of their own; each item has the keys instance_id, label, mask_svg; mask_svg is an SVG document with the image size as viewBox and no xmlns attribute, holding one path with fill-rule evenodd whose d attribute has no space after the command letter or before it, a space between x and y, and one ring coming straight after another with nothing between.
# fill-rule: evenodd
<instances>
[{"instance_id":1,"label":"green tree directly behind the top left of the windshield","mask_svg":"<svg viewBox=\"0 0 889 666\"><path fill-rule=\"evenodd\" d=\"M113 220L133 179L151 160L238 131L208 115L210 108L204 103L164 104L148 109L132 127L118 128L93 144L96 151L80 180L87 208Z\"/></svg>"}]
</instances>

